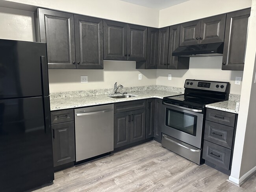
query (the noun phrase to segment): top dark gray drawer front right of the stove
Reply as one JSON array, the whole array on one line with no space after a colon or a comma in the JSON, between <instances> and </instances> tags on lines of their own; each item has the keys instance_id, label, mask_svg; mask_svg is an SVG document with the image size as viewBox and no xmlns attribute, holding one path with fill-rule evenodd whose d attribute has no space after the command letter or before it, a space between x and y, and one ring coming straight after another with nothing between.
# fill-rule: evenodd
<instances>
[{"instance_id":1,"label":"top dark gray drawer front right of the stove","mask_svg":"<svg viewBox=\"0 0 256 192\"><path fill-rule=\"evenodd\" d=\"M234 127L236 114L215 109L206 110L206 120Z\"/></svg>"}]
</instances>

